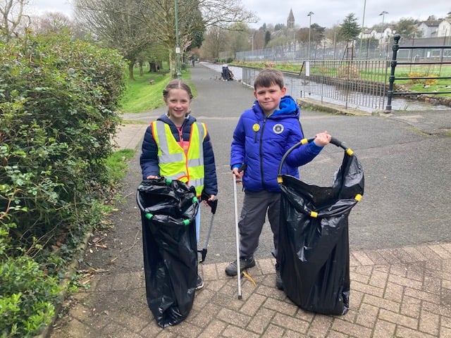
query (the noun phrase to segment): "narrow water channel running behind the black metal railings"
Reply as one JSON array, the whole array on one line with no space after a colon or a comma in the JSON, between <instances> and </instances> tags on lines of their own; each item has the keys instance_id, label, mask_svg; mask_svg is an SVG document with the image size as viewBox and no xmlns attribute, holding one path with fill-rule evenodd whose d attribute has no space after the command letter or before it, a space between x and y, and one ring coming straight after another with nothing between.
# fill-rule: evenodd
<instances>
[{"instance_id":1,"label":"narrow water channel running behind the black metal railings","mask_svg":"<svg viewBox=\"0 0 451 338\"><path fill-rule=\"evenodd\" d=\"M222 72L222 64L217 64L217 63L206 63L206 62L202 62L202 65L205 65L208 68L211 68L213 70L216 70L218 72L218 80L221 80L221 72ZM233 65L228 66L228 68L230 70L232 70L233 75L235 75L234 80L237 81L241 81L242 80L242 68L241 67L235 67ZM315 99L317 101L324 101L330 104L338 104L340 106L345 106L346 102L345 99L347 96L353 96L353 95L358 95L359 100L360 101L368 101L368 102L373 102L373 101L380 101L381 104L378 108L378 110L383 111L383 109L385 108L384 106L386 105L386 101L387 98L385 97L385 100L382 100L384 98L380 98L379 96L371 96L369 94L362 94L362 93L357 93L357 92L347 92L345 93L345 91L342 91L342 97L343 97L343 101L339 101L336 99L331 99L330 97L326 97L326 96L321 96L321 95L317 95L317 94L313 94L313 93L309 93L306 92L304 89L304 86L302 85L302 80L299 80L298 77L293 76L289 78L285 77L285 85L287 86L287 94L292 96L293 98L299 98L300 96L302 97L309 97L311 99ZM321 85L321 84L319 84ZM324 92L330 92L331 90L335 90L335 91L340 91L340 89L335 89L333 86L330 86L328 84L323 84L323 91ZM337 96L337 95L334 95ZM364 105L355 105L355 104L347 104L347 107L349 108L359 108L362 111L368 111L369 113L371 113L372 111L374 111L374 108L368 108L365 107ZM393 100L392 100L392 111L428 111L428 110L449 110L451 109L449 106L444 106L444 105L433 105L433 104L428 104L426 102L423 101L416 101L416 100L411 100L411 99L404 99L402 96L394 96Z\"/></svg>"}]
</instances>

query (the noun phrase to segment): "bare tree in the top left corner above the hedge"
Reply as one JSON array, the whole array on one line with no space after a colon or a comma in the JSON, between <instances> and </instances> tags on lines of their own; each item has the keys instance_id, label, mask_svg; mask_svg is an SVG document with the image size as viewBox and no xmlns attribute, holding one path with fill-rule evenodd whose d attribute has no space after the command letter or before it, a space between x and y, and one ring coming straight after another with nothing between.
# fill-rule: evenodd
<instances>
[{"instance_id":1,"label":"bare tree in the top left corner above the hedge","mask_svg":"<svg viewBox=\"0 0 451 338\"><path fill-rule=\"evenodd\" d=\"M29 0L2 0L0 4L0 33L1 38L8 41L13 35L18 35L16 31L23 20L23 8L27 6Z\"/></svg>"}]
</instances>

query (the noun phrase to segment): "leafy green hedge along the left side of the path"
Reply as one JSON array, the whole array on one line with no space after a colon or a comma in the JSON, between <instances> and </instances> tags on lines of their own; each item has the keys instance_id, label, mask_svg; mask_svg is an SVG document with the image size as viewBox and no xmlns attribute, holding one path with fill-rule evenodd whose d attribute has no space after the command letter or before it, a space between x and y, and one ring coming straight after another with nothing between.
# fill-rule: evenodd
<instances>
[{"instance_id":1,"label":"leafy green hedge along the left side of the path","mask_svg":"<svg viewBox=\"0 0 451 338\"><path fill-rule=\"evenodd\" d=\"M0 42L0 337L32 337L110 190L123 58L70 35Z\"/></svg>"}]
</instances>

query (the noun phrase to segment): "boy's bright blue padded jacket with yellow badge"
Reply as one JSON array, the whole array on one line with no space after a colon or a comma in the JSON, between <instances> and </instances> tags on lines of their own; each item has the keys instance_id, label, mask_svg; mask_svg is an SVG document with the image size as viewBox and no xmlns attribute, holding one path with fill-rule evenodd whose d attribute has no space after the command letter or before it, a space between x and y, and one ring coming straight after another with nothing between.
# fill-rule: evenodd
<instances>
[{"instance_id":1,"label":"boy's bright blue padded jacket with yellow badge","mask_svg":"<svg viewBox=\"0 0 451 338\"><path fill-rule=\"evenodd\" d=\"M283 155L304 136L299 123L300 111L290 96L280 101L280 110L266 117L256 100L242 113L233 132L230 166L247 164L243 176L245 190L279 192L278 167ZM313 142L299 146L285 159L282 174L299 177L298 167L309 163L323 149Z\"/></svg>"}]
</instances>

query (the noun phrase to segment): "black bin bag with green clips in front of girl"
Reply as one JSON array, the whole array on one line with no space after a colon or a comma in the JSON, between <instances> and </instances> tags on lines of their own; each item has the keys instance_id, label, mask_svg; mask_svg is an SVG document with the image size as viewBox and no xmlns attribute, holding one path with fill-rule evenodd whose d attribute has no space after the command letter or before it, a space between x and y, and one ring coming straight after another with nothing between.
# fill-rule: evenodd
<instances>
[{"instance_id":1,"label":"black bin bag with green clips in front of girl","mask_svg":"<svg viewBox=\"0 0 451 338\"><path fill-rule=\"evenodd\" d=\"M187 318L197 282L194 187L178 180L144 180L137 189L147 304L161 327Z\"/></svg>"}]
</instances>

